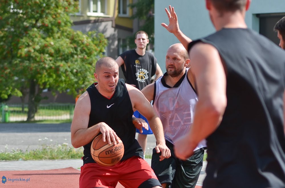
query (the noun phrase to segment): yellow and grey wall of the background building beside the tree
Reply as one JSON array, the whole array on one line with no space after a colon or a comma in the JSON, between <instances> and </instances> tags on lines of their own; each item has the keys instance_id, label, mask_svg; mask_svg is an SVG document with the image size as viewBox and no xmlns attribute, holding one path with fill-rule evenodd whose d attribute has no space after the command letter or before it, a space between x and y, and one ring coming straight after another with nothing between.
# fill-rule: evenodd
<instances>
[{"instance_id":1,"label":"yellow and grey wall of the background building beside the tree","mask_svg":"<svg viewBox=\"0 0 285 188\"><path fill-rule=\"evenodd\" d=\"M133 34L133 20L130 18L133 14L129 8L129 15L122 17L119 15L119 0L107 0L107 15L104 16L88 16L89 4L88 0L80 1L80 13L72 15L74 22L72 28L82 31L83 33L96 30L103 33L108 39L106 55L116 59L118 57L118 39L126 38ZM115 2L117 5L115 6ZM133 0L129 0L132 3ZM114 12L114 9L117 9Z\"/></svg>"}]
</instances>

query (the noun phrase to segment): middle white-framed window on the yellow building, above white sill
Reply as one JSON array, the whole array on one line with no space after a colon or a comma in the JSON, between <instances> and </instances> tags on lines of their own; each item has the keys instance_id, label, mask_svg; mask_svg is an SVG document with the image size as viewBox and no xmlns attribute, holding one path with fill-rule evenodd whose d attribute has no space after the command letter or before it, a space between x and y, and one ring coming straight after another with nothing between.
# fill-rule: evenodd
<instances>
[{"instance_id":1,"label":"middle white-framed window on the yellow building, above white sill","mask_svg":"<svg viewBox=\"0 0 285 188\"><path fill-rule=\"evenodd\" d=\"M107 14L107 0L89 0L87 16L100 16Z\"/></svg>"}]
</instances>

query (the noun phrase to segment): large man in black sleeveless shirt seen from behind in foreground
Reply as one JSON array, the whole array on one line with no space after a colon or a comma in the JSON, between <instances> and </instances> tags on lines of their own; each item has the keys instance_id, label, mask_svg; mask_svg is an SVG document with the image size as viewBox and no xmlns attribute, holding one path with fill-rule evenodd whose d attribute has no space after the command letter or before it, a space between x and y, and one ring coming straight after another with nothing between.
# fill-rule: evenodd
<instances>
[{"instance_id":1,"label":"large man in black sleeveless shirt seen from behind in foreground","mask_svg":"<svg viewBox=\"0 0 285 188\"><path fill-rule=\"evenodd\" d=\"M251 0L205 2L217 32L189 44L199 100L174 153L207 139L206 188L285 187L285 52L247 28Z\"/></svg>"}]
</instances>

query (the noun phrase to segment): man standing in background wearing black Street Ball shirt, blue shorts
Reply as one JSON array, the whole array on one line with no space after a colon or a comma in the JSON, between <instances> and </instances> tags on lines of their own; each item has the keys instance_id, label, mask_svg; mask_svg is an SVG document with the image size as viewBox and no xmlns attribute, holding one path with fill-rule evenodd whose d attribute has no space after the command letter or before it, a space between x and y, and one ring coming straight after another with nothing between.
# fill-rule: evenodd
<instances>
[{"instance_id":1,"label":"man standing in background wearing black Street Ball shirt, blue shorts","mask_svg":"<svg viewBox=\"0 0 285 188\"><path fill-rule=\"evenodd\" d=\"M136 34L135 43L137 48L135 50L128 50L122 53L117 59L119 67L122 66L126 82L142 90L146 85L150 84L152 76L155 75L154 81L162 76L156 58L146 51L146 45L149 43L148 34L144 31L139 31ZM134 116L146 120L138 111L134 112ZM147 120L146 120L147 122ZM138 135L138 141L143 151L146 150L147 135L152 134L151 129L146 130Z\"/></svg>"}]
</instances>

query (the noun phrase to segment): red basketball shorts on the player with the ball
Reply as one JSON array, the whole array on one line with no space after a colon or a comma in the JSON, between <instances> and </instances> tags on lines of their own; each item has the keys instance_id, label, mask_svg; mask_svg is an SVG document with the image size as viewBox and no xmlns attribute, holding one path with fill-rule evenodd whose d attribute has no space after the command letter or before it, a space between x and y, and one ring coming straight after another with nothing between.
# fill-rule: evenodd
<instances>
[{"instance_id":1,"label":"red basketball shorts on the player with the ball","mask_svg":"<svg viewBox=\"0 0 285 188\"><path fill-rule=\"evenodd\" d=\"M149 164L138 156L120 161L113 166L87 163L81 167L80 188L115 188L118 181L126 188L161 186Z\"/></svg>"}]
</instances>

